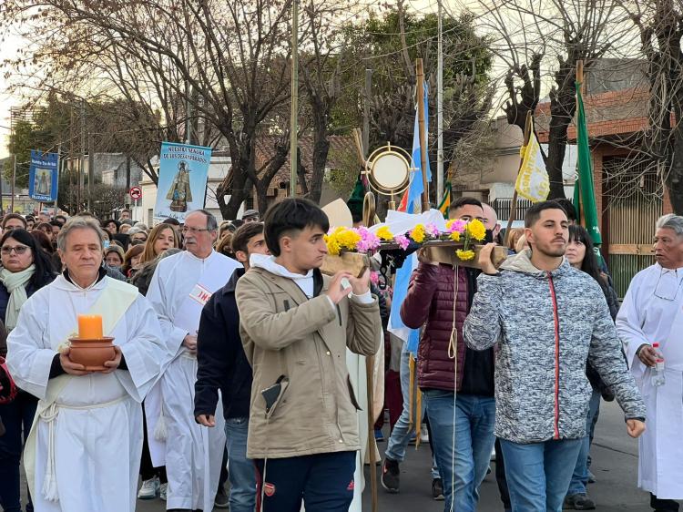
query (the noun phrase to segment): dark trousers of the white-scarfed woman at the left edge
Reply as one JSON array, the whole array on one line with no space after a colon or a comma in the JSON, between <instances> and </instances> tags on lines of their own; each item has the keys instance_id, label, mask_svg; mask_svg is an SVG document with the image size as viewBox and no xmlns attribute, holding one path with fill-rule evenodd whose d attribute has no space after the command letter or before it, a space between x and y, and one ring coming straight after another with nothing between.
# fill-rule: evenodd
<instances>
[{"instance_id":1,"label":"dark trousers of the white-scarfed woman at the left edge","mask_svg":"<svg viewBox=\"0 0 683 512\"><path fill-rule=\"evenodd\" d=\"M5 425L5 435L0 436L0 504L6 512L21 512L19 465L37 404L35 396L19 391L15 400L0 405L0 419ZM26 512L32 511L31 497L28 497Z\"/></svg>"}]
</instances>

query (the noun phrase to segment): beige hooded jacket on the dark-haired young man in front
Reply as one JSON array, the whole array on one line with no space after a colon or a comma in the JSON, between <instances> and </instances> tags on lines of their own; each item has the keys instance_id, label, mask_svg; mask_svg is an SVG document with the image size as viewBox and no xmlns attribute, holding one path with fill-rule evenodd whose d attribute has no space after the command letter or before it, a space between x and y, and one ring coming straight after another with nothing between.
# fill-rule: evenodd
<instances>
[{"instance_id":1,"label":"beige hooded jacket on the dark-haired young man in front","mask_svg":"<svg viewBox=\"0 0 683 512\"><path fill-rule=\"evenodd\" d=\"M281 458L360 449L357 401L346 367L346 347L372 355L382 322L370 304L325 295L310 300L290 279L252 268L237 284L240 334L254 373L251 386L250 458ZM261 392L284 375L289 384L270 419Z\"/></svg>"}]
</instances>

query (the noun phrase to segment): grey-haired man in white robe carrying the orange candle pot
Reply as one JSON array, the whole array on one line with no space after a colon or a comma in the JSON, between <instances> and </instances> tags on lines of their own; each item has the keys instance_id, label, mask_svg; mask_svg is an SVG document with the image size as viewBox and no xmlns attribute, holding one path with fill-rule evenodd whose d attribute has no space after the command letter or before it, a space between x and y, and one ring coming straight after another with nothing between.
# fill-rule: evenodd
<instances>
[{"instance_id":1,"label":"grey-haired man in white robe carrying the orange candle pot","mask_svg":"<svg viewBox=\"0 0 683 512\"><path fill-rule=\"evenodd\" d=\"M141 402L163 354L154 310L107 277L96 222L76 218L57 237L66 271L25 302L7 340L16 383L40 401L24 464L36 512L123 512L136 505ZM70 358L77 316L99 314L116 356L87 371Z\"/></svg>"}]
</instances>

